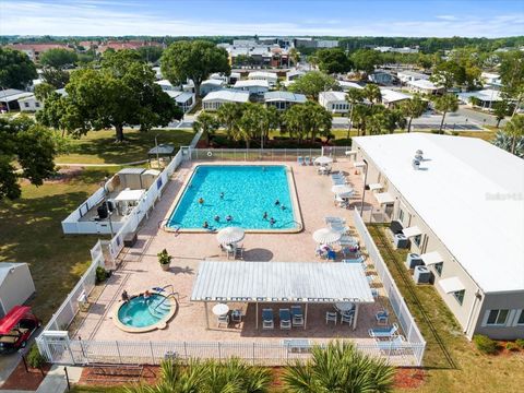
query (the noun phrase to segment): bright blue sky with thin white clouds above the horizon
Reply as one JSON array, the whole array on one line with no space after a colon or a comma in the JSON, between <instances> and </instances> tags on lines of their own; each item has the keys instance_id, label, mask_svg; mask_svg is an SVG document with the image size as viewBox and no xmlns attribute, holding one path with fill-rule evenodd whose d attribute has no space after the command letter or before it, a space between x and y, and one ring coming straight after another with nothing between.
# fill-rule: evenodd
<instances>
[{"instance_id":1,"label":"bright blue sky with thin white clouds above the horizon","mask_svg":"<svg viewBox=\"0 0 524 393\"><path fill-rule=\"evenodd\" d=\"M524 35L523 0L0 0L0 35Z\"/></svg>"}]
</instances>

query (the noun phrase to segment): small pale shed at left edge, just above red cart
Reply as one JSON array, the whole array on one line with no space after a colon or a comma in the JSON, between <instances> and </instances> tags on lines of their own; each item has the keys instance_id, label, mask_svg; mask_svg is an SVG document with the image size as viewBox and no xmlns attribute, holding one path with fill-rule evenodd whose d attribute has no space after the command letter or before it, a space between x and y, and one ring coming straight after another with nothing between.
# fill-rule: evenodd
<instances>
[{"instance_id":1,"label":"small pale shed at left edge, just above red cart","mask_svg":"<svg viewBox=\"0 0 524 393\"><path fill-rule=\"evenodd\" d=\"M27 263L0 262L0 318L35 293Z\"/></svg>"}]
</instances>

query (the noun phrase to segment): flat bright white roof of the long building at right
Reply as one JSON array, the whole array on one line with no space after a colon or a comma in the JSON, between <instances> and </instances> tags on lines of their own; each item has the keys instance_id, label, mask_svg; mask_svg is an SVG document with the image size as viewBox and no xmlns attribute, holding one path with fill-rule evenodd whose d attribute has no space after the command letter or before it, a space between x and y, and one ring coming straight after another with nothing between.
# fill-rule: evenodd
<instances>
[{"instance_id":1,"label":"flat bright white roof of the long building at right","mask_svg":"<svg viewBox=\"0 0 524 393\"><path fill-rule=\"evenodd\" d=\"M353 140L484 291L524 290L524 159L477 138Z\"/></svg>"}]
</instances>

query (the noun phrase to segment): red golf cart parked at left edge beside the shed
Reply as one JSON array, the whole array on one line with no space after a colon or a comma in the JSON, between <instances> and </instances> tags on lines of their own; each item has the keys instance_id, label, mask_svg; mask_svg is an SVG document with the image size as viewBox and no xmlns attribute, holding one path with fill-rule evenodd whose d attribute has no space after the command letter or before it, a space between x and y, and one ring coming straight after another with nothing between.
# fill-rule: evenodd
<instances>
[{"instance_id":1,"label":"red golf cart parked at left edge beside the shed","mask_svg":"<svg viewBox=\"0 0 524 393\"><path fill-rule=\"evenodd\" d=\"M25 347L41 322L31 312L31 307L14 306L0 319L0 354Z\"/></svg>"}]
</instances>

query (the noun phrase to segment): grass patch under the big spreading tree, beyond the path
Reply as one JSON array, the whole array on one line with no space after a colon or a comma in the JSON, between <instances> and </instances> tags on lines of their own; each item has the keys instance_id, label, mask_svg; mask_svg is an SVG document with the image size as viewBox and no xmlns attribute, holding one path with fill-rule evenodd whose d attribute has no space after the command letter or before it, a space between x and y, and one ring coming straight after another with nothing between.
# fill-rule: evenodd
<instances>
[{"instance_id":1,"label":"grass patch under the big spreading tree, beyond the path","mask_svg":"<svg viewBox=\"0 0 524 393\"><path fill-rule=\"evenodd\" d=\"M86 135L71 141L68 155L57 157L60 164L124 164L147 159L147 152L155 146L155 135L158 144L170 143L175 146L186 146L191 143L193 130L126 130L127 142L115 143L114 130L90 131Z\"/></svg>"}]
</instances>

